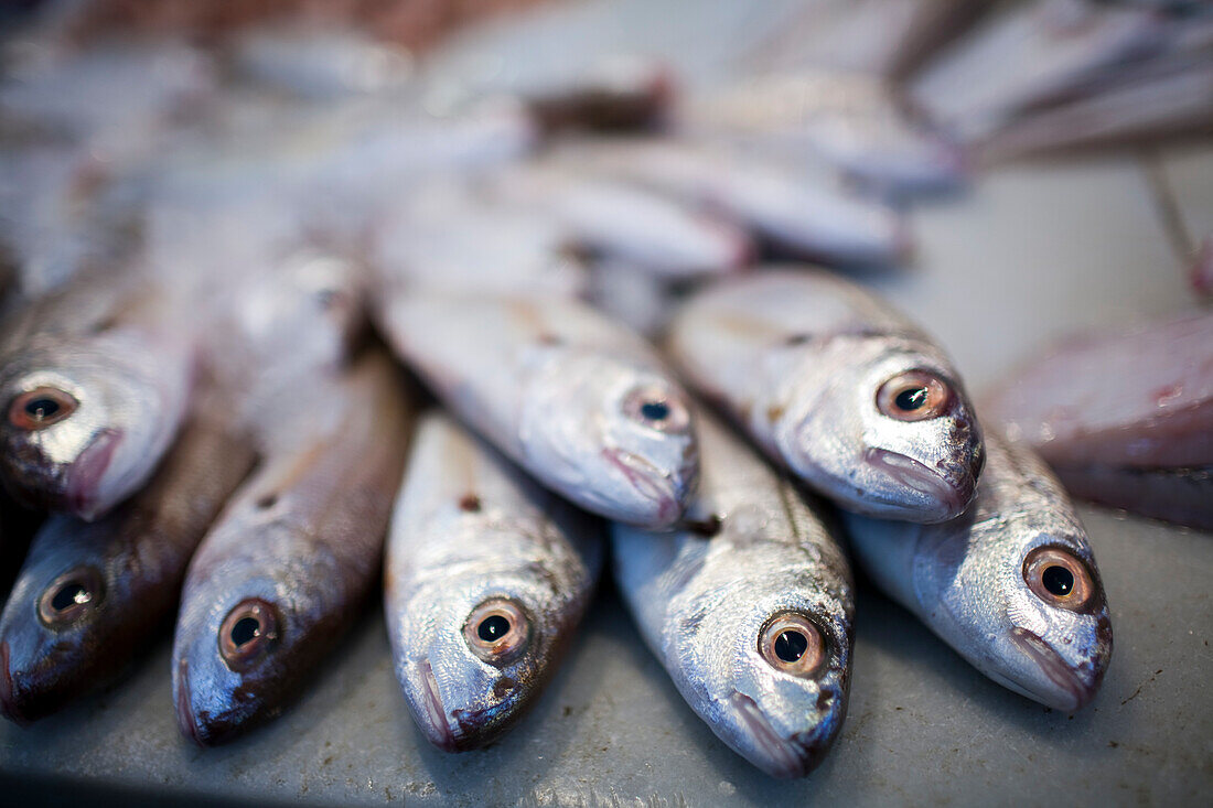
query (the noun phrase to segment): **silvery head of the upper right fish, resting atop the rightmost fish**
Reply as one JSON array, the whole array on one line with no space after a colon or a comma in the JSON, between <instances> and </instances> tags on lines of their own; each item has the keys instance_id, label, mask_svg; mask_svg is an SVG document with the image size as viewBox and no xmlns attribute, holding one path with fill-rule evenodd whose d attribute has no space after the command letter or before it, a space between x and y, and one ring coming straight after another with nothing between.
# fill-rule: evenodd
<instances>
[{"instance_id":1,"label":"silvery head of the upper right fish, resting atop the rightmost fish","mask_svg":"<svg viewBox=\"0 0 1213 808\"><path fill-rule=\"evenodd\" d=\"M935 352L847 341L804 374L793 397L790 465L861 513L935 523L959 516L985 462L964 388Z\"/></svg>"}]
</instances>

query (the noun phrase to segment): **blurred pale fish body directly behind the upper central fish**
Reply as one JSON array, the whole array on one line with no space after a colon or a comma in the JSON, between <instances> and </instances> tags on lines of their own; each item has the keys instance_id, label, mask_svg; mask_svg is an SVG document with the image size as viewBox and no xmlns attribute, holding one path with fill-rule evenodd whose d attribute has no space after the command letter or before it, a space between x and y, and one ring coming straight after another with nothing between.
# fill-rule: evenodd
<instances>
[{"instance_id":1,"label":"blurred pale fish body directly behind the upper central fish","mask_svg":"<svg viewBox=\"0 0 1213 808\"><path fill-rule=\"evenodd\" d=\"M579 297L590 284L559 222L495 204L466 182L410 187L372 216L366 244L374 271L406 289Z\"/></svg>"}]
</instances>

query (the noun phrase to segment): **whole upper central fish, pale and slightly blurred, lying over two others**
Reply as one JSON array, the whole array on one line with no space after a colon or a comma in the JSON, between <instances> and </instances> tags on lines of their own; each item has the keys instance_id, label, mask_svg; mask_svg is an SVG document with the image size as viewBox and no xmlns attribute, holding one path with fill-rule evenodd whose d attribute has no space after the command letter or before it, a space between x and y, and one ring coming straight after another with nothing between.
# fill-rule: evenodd
<instances>
[{"instance_id":1,"label":"whole upper central fish, pale and slightly blurred, lying over two others","mask_svg":"<svg viewBox=\"0 0 1213 808\"><path fill-rule=\"evenodd\" d=\"M540 483L668 527L695 486L690 402L639 336L573 300L399 295L378 324L442 403Z\"/></svg>"}]
</instances>

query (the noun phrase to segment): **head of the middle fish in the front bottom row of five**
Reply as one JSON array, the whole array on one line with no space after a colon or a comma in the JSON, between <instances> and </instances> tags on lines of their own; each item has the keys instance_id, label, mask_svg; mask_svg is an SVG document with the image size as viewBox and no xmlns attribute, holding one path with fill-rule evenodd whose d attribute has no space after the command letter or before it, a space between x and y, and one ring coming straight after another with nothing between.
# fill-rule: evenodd
<instances>
[{"instance_id":1,"label":"head of the middle fish in the front bottom row of five","mask_svg":"<svg viewBox=\"0 0 1213 808\"><path fill-rule=\"evenodd\" d=\"M475 540L500 544L513 568L456 565L415 590L406 614L389 616L395 647L406 649L397 656L405 700L426 738L448 752L484 746L525 712L581 611L552 558L533 546L526 563L508 552L522 542L502 533Z\"/></svg>"}]
</instances>

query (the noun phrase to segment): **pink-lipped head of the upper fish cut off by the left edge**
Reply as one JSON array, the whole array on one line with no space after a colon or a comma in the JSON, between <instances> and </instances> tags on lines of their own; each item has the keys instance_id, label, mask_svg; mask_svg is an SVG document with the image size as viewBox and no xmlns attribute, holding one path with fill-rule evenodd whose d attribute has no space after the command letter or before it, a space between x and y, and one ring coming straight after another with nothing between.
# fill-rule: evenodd
<instances>
[{"instance_id":1,"label":"pink-lipped head of the upper fish cut off by the left edge","mask_svg":"<svg viewBox=\"0 0 1213 808\"><path fill-rule=\"evenodd\" d=\"M132 494L184 416L182 355L107 338L6 368L0 471L13 495L91 520Z\"/></svg>"}]
</instances>

